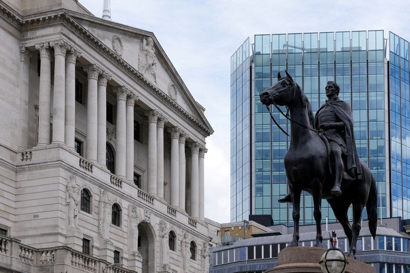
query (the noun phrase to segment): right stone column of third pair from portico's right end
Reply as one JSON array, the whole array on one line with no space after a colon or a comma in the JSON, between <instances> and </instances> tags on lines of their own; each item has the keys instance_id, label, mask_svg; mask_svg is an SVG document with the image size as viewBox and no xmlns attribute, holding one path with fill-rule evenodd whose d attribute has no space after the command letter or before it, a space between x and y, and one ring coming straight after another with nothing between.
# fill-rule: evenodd
<instances>
[{"instance_id":1,"label":"right stone column of third pair from portico's right end","mask_svg":"<svg viewBox=\"0 0 410 273\"><path fill-rule=\"evenodd\" d=\"M163 126L167 122L163 115L157 122L157 196L163 198Z\"/></svg>"}]
</instances>

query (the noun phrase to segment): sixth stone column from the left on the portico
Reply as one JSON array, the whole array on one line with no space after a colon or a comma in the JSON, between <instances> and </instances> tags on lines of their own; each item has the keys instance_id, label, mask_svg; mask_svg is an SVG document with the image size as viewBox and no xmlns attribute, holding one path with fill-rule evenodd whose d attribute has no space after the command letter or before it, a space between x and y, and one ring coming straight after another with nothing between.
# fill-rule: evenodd
<instances>
[{"instance_id":1,"label":"sixth stone column from the left on the portico","mask_svg":"<svg viewBox=\"0 0 410 273\"><path fill-rule=\"evenodd\" d=\"M107 152L107 81L111 75L105 71L98 78L98 110L97 110L97 161L102 167L106 167Z\"/></svg>"}]
</instances>

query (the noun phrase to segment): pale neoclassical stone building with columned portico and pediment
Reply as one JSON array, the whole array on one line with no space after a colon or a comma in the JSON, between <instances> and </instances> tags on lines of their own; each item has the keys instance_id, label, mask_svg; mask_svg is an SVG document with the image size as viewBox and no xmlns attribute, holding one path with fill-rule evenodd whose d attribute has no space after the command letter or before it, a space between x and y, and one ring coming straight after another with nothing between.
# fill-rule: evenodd
<instances>
[{"instance_id":1,"label":"pale neoclassical stone building with columned portico and pediment","mask_svg":"<svg viewBox=\"0 0 410 273\"><path fill-rule=\"evenodd\" d=\"M0 272L207 271L213 129L154 34L0 0L0 41Z\"/></svg>"}]
</instances>

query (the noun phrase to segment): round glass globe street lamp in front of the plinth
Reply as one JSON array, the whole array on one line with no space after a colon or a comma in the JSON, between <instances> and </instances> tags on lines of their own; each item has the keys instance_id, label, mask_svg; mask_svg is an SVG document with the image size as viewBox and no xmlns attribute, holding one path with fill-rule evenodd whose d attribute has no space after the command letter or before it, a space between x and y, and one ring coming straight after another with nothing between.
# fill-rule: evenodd
<instances>
[{"instance_id":1,"label":"round glass globe street lamp in front of the plinth","mask_svg":"<svg viewBox=\"0 0 410 273\"><path fill-rule=\"evenodd\" d=\"M332 247L327 249L320 258L320 269L322 269L323 273L343 273L348 262L344 253L339 248L336 248L336 232L332 232L331 242Z\"/></svg>"}]
</instances>

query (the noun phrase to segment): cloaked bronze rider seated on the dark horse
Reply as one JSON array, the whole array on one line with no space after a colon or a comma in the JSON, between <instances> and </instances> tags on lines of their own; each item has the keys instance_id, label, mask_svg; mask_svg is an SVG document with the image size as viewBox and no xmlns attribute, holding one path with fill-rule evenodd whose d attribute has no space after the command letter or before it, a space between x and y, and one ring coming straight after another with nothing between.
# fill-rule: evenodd
<instances>
[{"instance_id":1,"label":"cloaked bronze rider seated on the dark horse","mask_svg":"<svg viewBox=\"0 0 410 273\"><path fill-rule=\"evenodd\" d=\"M325 91L327 100L316 112L315 127L329 142L335 178L331 193L341 195L342 179L362 179L362 171L355 144L352 110L345 101L339 99L340 88L336 82L328 81ZM279 202L291 201L290 194L279 199Z\"/></svg>"}]
</instances>

